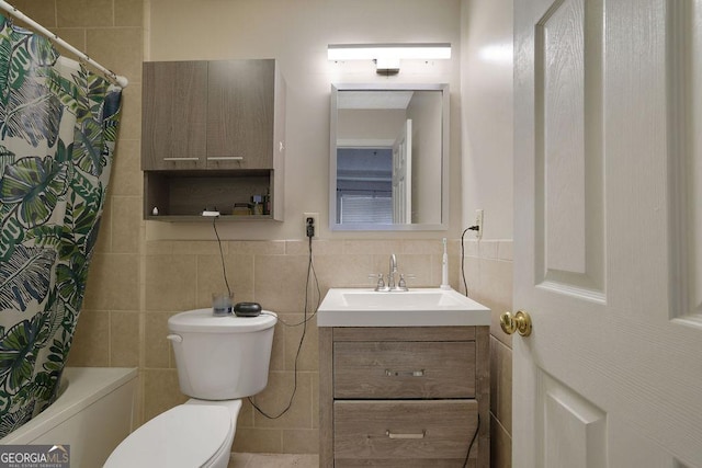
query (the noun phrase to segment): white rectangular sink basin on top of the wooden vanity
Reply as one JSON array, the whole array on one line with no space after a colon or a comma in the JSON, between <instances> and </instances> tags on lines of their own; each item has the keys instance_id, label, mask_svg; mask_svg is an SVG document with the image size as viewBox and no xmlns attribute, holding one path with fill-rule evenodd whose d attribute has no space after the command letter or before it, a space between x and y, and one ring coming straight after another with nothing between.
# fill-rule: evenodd
<instances>
[{"instance_id":1,"label":"white rectangular sink basin on top of the wooden vanity","mask_svg":"<svg viewBox=\"0 0 702 468\"><path fill-rule=\"evenodd\" d=\"M489 326L490 309L453 289L380 293L331 288L317 312L318 327Z\"/></svg>"}]
</instances>

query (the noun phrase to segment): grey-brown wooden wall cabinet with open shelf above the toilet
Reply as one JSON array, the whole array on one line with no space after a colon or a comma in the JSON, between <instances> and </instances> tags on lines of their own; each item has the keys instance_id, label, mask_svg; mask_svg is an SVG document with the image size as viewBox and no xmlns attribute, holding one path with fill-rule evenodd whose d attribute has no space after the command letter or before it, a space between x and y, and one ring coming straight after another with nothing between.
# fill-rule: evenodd
<instances>
[{"instance_id":1,"label":"grey-brown wooden wall cabinet with open shelf above the toilet","mask_svg":"<svg viewBox=\"0 0 702 468\"><path fill-rule=\"evenodd\" d=\"M283 218L285 82L273 59L144 64L144 216ZM270 213L233 216L270 194ZM155 209L158 215L155 215ZM206 218L205 218L206 219Z\"/></svg>"}]
</instances>

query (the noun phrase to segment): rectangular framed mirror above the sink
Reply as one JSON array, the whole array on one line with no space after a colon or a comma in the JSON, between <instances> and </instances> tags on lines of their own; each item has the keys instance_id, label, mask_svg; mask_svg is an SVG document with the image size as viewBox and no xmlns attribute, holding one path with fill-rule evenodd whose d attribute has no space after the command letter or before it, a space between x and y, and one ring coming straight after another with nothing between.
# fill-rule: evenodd
<instances>
[{"instance_id":1,"label":"rectangular framed mirror above the sink","mask_svg":"<svg viewBox=\"0 0 702 468\"><path fill-rule=\"evenodd\" d=\"M332 230L446 230L449 85L332 84Z\"/></svg>"}]
</instances>

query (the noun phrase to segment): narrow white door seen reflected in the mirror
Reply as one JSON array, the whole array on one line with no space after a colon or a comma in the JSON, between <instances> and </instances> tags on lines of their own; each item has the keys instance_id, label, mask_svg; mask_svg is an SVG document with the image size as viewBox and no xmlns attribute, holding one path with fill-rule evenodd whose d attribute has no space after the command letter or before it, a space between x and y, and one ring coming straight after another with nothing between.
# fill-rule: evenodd
<instances>
[{"instance_id":1,"label":"narrow white door seen reflected in the mirror","mask_svg":"<svg viewBox=\"0 0 702 468\"><path fill-rule=\"evenodd\" d=\"M393 144L393 222L412 221L412 119L405 121Z\"/></svg>"}]
</instances>

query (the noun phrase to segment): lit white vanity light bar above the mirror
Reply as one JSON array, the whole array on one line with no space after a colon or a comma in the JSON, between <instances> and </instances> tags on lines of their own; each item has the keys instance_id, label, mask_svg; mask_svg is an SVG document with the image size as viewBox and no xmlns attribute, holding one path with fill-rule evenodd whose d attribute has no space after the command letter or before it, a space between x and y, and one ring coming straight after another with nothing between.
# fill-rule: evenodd
<instances>
[{"instance_id":1,"label":"lit white vanity light bar above the mirror","mask_svg":"<svg viewBox=\"0 0 702 468\"><path fill-rule=\"evenodd\" d=\"M329 44L329 60L451 58L451 44Z\"/></svg>"}]
</instances>

